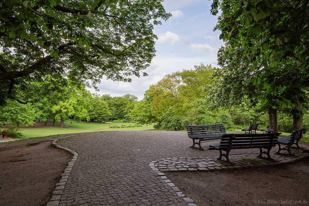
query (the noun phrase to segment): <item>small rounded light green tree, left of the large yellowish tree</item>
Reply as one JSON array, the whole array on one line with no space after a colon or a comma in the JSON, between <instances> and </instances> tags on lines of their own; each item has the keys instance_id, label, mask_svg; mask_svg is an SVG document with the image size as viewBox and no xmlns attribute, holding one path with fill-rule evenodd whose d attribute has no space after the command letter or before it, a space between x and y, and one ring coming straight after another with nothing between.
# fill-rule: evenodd
<instances>
[{"instance_id":1,"label":"small rounded light green tree, left of the large yellowish tree","mask_svg":"<svg viewBox=\"0 0 309 206\"><path fill-rule=\"evenodd\" d=\"M136 103L129 116L132 120L136 120L140 124L150 124L153 122L150 103L145 100Z\"/></svg>"}]
</instances>

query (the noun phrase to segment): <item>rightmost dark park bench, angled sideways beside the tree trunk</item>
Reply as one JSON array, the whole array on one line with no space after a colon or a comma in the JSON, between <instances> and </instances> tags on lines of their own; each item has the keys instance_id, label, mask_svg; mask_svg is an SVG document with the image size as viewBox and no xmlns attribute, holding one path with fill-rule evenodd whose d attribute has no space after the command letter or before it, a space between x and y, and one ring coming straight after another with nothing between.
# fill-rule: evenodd
<instances>
[{"instance_id":1,"label":"rightmost dark park bench, angled sideways beside the tree trunk","mask_svg":"<svg viewBox=\"0 0 309 206\"><path fill-rule=\"evenodd\" d=\"M279 150L276 153L281 154L280 153L281 150L287 150L290 155L294 156L291 153L290 149L292 148L292 145L294 145L294 144L296 145L296 148L301 148L298 145L298 141L303 137L304 131L305 131L305 128L300 128L300 129L294 130L291 133L291 135L288 135L288 136L285 136L285 137L282 137L281 139L279 139L278 142L277 142L277 144L279 146ZM286 147L281 148L280 145L286 145Z\"/></svg>"}]
</instances>

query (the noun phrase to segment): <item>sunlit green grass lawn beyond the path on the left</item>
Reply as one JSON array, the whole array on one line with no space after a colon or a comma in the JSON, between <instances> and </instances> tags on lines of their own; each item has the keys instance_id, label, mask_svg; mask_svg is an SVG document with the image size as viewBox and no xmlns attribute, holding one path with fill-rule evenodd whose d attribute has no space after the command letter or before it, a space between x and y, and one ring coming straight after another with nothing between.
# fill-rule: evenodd
<instances>
[{"instance_id":1,"label":"sunlit green grass lawn beyond the path on the left","mask_svg":"<svg viewBox=\"0 0 309 206\"><path fill-rule=\"evenodd\" d=\"M133 124L133 123L120 123L120 124ZM28 127L22 128L21 132L25 138L32 137L44 137L58 134L70 134L78 132L98 132L98 131L132 131L132 130L145 130L153 129L153 125L143 125L143 127L132 127L132 128L109 128L110 125L118 125L118 123L88 123L88 122L72 122L65 121L65 126L68 128L60 128L60 121L56 121L55 126L52 126L52 122L48 122L48 126Z\"/></svg>"}]
</instances>

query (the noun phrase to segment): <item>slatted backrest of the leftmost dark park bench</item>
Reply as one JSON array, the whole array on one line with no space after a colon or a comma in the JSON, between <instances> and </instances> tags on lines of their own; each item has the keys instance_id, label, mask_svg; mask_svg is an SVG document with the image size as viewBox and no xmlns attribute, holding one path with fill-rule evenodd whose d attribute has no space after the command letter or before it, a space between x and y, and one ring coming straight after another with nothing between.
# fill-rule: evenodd
<instances>
[{"instance_id":1,"label":"slatted backrest of the leftmost dark park bench","mask_svg":"<svg viewBox=\"0 0 309 206\"><path fill-rule=\"evenodd\" d=\"M223 124L209 124L209 125L184 125L187 127L188 136L190 138L211 137L221 134L226 134Z\"/></svg>"}]
</instances>

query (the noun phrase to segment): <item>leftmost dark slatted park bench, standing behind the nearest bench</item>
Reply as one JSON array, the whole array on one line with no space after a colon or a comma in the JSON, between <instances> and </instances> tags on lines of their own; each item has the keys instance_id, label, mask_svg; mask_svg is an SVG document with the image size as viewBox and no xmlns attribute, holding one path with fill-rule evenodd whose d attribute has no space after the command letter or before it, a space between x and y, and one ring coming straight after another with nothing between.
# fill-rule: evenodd
<instances>
[{"instance_id":1,"label":"leftmost dark slatted park bench, standing behind the nearest bench","mask_svg":"<svg viewBox=\"0 0 309 206\"><path fill-rule=\"evenodd\" d=\"M187 127L188 136L193 140L193 145L190 148L204 150L201 147L203 141L219 140L223 134L226 134L223 124L210 125L184 125ZM195 142L195 141L198 142ZM195 147L199 145L199 147Z\"/></svg>"}]
</instances>

